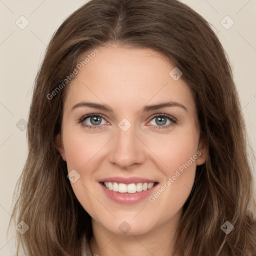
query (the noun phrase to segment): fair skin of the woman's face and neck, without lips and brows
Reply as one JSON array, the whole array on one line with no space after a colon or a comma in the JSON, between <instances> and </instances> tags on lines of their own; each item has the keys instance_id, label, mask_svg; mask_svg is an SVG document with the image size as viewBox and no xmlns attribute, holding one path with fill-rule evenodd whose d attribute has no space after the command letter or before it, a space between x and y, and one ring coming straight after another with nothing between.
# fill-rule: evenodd
<instances>
[{"instance_id":1,"label":"fair skin of the woman's face and neck, without lips and brows","mask_svg":"<svg viewBox=\"0 0 256 256\"><path fill-rule=\"evenodd\" d=\"M98 50L71 81L61 133L56 137L68 172L75 169L80 175L71 185L92 219L92 255L172 255L174 232L196 165L206 158L193 96L182 76L174 80L169 75L174 65L151 49L111 44ZM71 110L81 101L106 104L113 112L87 106ZM166 101L178 102L187 111L179 106L141 111L145 105ZM78 123L90 113L103 115L95 129ZM157 114L168 114L176 123L154 128L171 123L166 118L161 126ZM118 126L123 118L131 123L127 131ZM93 126L90 118L83 123ZM133 204L117 203L98 183L110 176L138 176L157 180L160 188L196 151L200 156L154 202L145 198ZM118 228L123 221L131 227L125 234Z\"/></svg>"}]
</instances>

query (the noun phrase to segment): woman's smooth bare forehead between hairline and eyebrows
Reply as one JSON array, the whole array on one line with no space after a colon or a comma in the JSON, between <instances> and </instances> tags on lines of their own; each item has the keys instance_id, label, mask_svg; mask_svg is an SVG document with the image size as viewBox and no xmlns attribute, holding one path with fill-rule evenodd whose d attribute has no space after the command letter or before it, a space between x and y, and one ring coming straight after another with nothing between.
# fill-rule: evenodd
<instances>
[{"instance_id":1,"label":"woman's smooth bare forehead between hairline and eyebrows","mask_svg":"<svg viewBox=\"0 0 256 256\"><path fill-rule=\"evenodd\" d=\"M98 47L68 85L65 107L91 100L113 109L141 108L145 104L176 101L195 108L191 91L182 78L174 80L175 67L152 49L116 45ZM83 55L81 59L89 53Z\"/></svg>"}]
</instances>

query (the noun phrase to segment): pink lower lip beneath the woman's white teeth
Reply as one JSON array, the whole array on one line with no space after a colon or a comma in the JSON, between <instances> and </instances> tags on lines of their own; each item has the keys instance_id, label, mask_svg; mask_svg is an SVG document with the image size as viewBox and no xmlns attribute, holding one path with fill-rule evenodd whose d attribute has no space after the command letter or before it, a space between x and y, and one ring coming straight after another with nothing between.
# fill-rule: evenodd
<instances>
[{"instance_id":1,"label":"pink lower lip beneath the woman's white teeth","mask_svg":"<svg viewBox=\"0 0 256 256\"><path fill-rule=\"evenodd\" d=\"M135 192L135 193L119 193L119 192L109 190L102 183L100 183L100 185L103 191L105 192L105 194L113 201L118 203L131 204L131 203L142 201L146 197L149 197L149 195L152 193L152 191L155 189L158 183L156 183L154 186L152 186L151 188L145 191Z\"/></svg>"}]
</instances>

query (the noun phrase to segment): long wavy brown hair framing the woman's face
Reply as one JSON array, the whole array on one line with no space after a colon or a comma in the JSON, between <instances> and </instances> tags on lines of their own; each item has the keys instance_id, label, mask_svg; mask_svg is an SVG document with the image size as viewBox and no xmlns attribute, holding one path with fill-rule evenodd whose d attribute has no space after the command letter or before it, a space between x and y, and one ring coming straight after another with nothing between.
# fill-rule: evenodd
<instances>
[{"instance_id":1,"label":"long wavy brown hair framing the woman's face","mask_svg":"<svg viewBox=\"0 0 256 256\"><path fill-rule=\"evenodd\" d=\"M85 244L89 255L91 219L72 191L55 137L69 85L63 81L85 52L107 43L161 53L182 70L194 96L208 154L183 206L176 252L256 255L252 171L231 67L210 24L177 0L91 0L52 36L35 79L28 156L16 187L13 216L29 226L17 233L17 251L22 245L29 256L80 256ZM229 234L221 230L225 221L234 226Z\"/></svg>"}]
</instances>

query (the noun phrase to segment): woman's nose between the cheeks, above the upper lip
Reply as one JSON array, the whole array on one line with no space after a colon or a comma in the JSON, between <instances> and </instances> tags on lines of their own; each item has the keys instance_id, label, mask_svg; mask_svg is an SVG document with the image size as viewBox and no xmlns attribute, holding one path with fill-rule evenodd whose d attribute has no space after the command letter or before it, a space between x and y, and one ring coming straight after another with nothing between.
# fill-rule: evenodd
<instances>
[{"instance_id":1,"label":"woman's nose between the cheeks, above the upper lip","mask_svg":"<svg viewBox=\"0 0 256 256\"><path fill-rule=\"evenodd\" d=\"M142 138L135 134L134 126L126 131L117 127L117 134L110 145L109 161L121 169L129 169L134 165L142 164L145 160L146 146L141 140Z\"/></svg>"}]
</instances>

